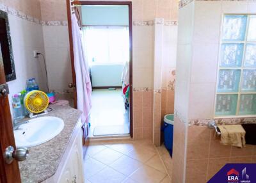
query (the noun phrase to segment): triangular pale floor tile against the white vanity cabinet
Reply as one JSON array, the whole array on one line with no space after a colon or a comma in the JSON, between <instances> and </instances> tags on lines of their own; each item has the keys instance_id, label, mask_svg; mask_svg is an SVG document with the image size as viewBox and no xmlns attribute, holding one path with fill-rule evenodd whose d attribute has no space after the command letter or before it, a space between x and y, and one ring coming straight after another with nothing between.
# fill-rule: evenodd
<instances>
[{"instance_id":1,"label":"triangular pale floor tile against the white vanity cabinet","mask_svg":"<svg viewBox=\"0 0 256 183\"><path fill-rule=\"evenodd\" d=\"M88 158L84 161L84 176L86 179L89 179L105 167L106 164L100 163L92 157Z\"/></svg>"}]
</instances>

